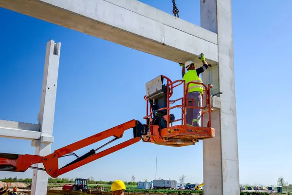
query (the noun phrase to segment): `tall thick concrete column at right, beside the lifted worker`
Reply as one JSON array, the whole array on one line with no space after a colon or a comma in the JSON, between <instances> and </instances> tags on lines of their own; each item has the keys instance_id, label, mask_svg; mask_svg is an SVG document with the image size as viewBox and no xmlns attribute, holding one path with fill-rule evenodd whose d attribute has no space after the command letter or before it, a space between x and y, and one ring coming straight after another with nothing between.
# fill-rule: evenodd
<instances>
[{"instance_id":1,"label":"tall thick concrete column at right, beside the lifted worker","mask_svg":"<svg viewBox=\"0 0 292 195\"><path fill-rule=\"evenodd\" d=\"M219 56L202 79L223 93L212 112L215 138L203 141L204 195L239 195L231 0L201 0L201 27L218 34Z\"/></svg>"}]
</instances>

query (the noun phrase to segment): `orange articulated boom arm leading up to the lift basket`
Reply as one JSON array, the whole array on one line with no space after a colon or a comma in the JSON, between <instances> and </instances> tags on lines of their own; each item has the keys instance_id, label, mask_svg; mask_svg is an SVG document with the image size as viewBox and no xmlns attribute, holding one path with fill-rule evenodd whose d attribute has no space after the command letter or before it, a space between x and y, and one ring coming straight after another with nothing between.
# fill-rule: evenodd
<instances>
[{"instance_id":1,"label":"orange articulated boom arm leading up to the lift basket","mask_svg":"<svg viewBox=\"0 0 292 195\"><path fill-rule=\"evenodd\" d=\"M106 149L102 152L96 153L97 150L108 145L116 139L123 137L123 134L126 130L133 128L133 138L122 142L118 145L115 145L109 149ZM46 171L47 174L51 177L57 177L62 174L65 174L73 169L76 169L82 165L90 163L98 158L107 156L113 152L116 152L120 149L128 147L134 143L137 143L141 140L142 132L144 131L144 126L138 120L130 120L126 123L103 131L101 133L95 134L91 137L87 137L80 141L77 141L73 144L55 150L54 153L47 156L36 156L36 155L15 155L15 154L3 154L0 153L0 171L13 171L13 172L25 172L28 168L39 169ZM76 160L73 160L71 163L65 165L59 169L58 158L66 156L76 150L89 146L95 142L103 140L105 138L113 136L114 138L108 143L102 145L101 147L91 150L83 156L78 157ZM44 168L32 167L33 164L43 163Z\"/></svg>"}]
</instances>

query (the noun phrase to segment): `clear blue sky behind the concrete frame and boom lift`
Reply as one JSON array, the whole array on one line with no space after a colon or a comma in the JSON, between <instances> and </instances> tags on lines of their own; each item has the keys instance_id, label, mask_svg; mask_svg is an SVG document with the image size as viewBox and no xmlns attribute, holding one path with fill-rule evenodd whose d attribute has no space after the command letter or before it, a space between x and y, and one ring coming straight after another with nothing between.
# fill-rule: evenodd
<instances>
[{"instance_id":1,"label":"clear blue sky behind the concrete frame and boom lift","mask_svg":"<svg viewBox=\"0 0 292 195\"><path fill-rule=\"evenodd\" d=\"M172 11L170 0L141 0ZM180 18L200 26L199 1L177 0ZM240 183L292 183L288 123L292 1L233 1L234 63ZM158 75L181 78L177 63L0 8L0 118L37 123L46 43L61 42L52 151L124 123L144 122L145 83ZM155 70L155 71L153 71ZM131 137L131 131L124 139ZM119 143L118 141L117 143ZM102 142L105 143L105 142ZM94 144L78 155L95 149ZM34 154L28 140L0 138L2 153ZM157 177L203 181L202 142L172 148L139 142L64 177L136 181ZM62 159L60 163L73 160ZM0 172L0 177L31 177Z\"/></svg>"}]
</instances>

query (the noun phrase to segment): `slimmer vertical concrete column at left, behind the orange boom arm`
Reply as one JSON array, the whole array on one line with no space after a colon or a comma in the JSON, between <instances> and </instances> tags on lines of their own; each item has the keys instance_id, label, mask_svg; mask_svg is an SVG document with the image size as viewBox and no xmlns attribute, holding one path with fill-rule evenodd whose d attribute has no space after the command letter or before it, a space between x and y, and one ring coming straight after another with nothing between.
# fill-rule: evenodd
<instances>
[{"instance_id":1,"label":"slimmer vertical concrete column at left, behind the orange boom arm","mask_svg":"<svg viewBox=\"0 0 292 195\"><path fill-rule=\"evenodd\" d=\"M61 43L55 43L54 40L50 40L47 43L41 102L39 113L37 115L38 124L40 125L41 138L40 140L32 141L32 146L36 147L35 154L39 156L51 154L51 143L54 141L53 125L60 48ZM41 163L34 166L44 168ZM48 174L45 171L34 170L31 194L46 195L47 185Z\"/></svg>"}]
</instances>

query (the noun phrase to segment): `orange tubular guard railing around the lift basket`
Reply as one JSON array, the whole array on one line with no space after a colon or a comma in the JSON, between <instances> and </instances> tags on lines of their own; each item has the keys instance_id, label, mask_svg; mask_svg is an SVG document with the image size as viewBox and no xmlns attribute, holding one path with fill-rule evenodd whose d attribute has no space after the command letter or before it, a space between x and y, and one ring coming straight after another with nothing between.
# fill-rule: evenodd
<instances>
[{"instance_id":1,"label":"orange tubular guard railing around the lift basket","mask_svg":"<svg viewBox=\"0 0 292 195\"><path fill-rule=\"evenodd\" d=\"M147 118L150 118L150 122L152 120L152 117L151 115L155 112L158 112L158 111L162 111L162 110L167 110L167 114L166 116L164 116L165 120L167 121L167 127L169 127L169 115L170 115L170 110L174 109L174 108L181 108L182 110L182 117L179 118L179 119L176 119L172 122L177 122L177 121L182 121L182 125L187 125L186 124L186 108L197 108L197 109L201 109L201 126L203 127L203 114L206 114L208 113L208 124L207 124L207 127L211 127L211 103L210 103L210 89L212 88L212 85L211 84L208 84L208 87L201 83L201 82L194 82L194 81L191 81L191 82L188 82L186 85L185 85L185 80L176 80L176 81L171 81L169 78L165 77L165 76L161 76L162 78L165 78L167 83L166 83L166 89L167 89L167 102L166 102L166 107L164 108L160 108L159 110L155 110L155 111L152 111L152 108L151 106L148 106L149 105L149 99L146 98L146 96L144 96L144 98L146 99L146 116L144 117L144 119L147 119ZM192 100L192 106L189 106L187 104L187 94L188 94L188 86L189 84L191 83L194 83L194 84L201 84L204 88L204 93L202 94L202 107L197 107L197 106L193 106L194 102ZM178 87L180 85L183 84L183 97L182 98L178 98L178 99L174 99L174 100L170 100L171 96L173 95L173 89L175 87ZM169 90L170 89L170 90ZM205 102L203 101L205 98ZM175 105L175 106L172 106L170 107L170 104L173 104L177 101L181 100L182 101L182 104L179 104L179 105ZM205 103L205 105L204 105ZM204 113L204 109L207 108L207 112ZM172 123L171 123L171 126L172 126Z\"/></svg>"}]
</instances>

